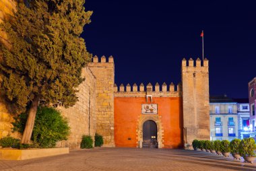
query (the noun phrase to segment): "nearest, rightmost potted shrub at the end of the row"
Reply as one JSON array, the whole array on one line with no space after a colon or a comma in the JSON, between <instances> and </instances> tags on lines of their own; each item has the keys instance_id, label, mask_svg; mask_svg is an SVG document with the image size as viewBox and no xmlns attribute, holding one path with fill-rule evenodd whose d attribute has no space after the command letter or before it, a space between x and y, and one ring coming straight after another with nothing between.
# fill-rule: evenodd
<instances>
[{"instance_id":1,"label":"nearest, rightmost potted shrub at the end of the row","mask_svg":"<svg viewBox=\"0 0 256 171\"><path fill-rule=\"evenodd\" d=\"M255 161L255 149L256 144L252 137L243 139L239 145L239 153L243 156L245 162L253 163Z\"/></svg>"}]
</instances>

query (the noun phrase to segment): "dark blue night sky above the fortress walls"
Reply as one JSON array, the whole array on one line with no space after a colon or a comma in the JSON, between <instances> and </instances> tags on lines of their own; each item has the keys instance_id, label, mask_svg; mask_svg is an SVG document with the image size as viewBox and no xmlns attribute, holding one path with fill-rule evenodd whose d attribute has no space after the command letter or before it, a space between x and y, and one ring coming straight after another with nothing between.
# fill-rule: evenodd
<instances>
[{"instance_id":1,"label":"dark blue night sky above the fortress walls","mask_svg":"<svg viewBox=\"0 0 256 171\"><path fill-rule=\"evenodd\" d=\"M115 60L115 82L175 85L181 60L210 61L210 95L248 98L256 76L256 9L253 1L87 0L94 11L83 38L93 55Z\"/></svg>"}]
</instances>

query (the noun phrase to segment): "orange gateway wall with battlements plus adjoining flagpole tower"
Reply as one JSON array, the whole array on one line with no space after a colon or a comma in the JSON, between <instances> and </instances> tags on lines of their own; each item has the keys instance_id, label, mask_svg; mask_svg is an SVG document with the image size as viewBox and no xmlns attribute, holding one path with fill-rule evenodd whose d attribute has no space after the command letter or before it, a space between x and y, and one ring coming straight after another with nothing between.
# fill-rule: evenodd
<instances>
[{"instance_id":1,"label":"orange gateway wall with battlements plus adjoining flagpole tower","mask_svg":"<svg viewBox=\"0 0 256 171\"><path fill-rule=\"evenodd\" d=\"M116 147L191 148L210 139L208 61L182 61L182 83L114 86Z\"/></svg>"}]
</instances>

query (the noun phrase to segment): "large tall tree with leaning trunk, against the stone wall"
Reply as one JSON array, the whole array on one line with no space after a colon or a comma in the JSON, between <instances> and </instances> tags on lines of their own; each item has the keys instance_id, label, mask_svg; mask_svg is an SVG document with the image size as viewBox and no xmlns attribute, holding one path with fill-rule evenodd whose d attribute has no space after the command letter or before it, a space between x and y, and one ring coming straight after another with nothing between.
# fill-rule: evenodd
<instances>
[{"instance_id":1,"label":"large tall tree with leaning trunk, against the stone wall","mask_svg":"<svg viewBox=\"0 0 256 171\"><path fill-rule=\"evenodd\" d=\"M91 55L80 37L91 11L84 0L18 1L1 25L11 49L0 47L1 94L18 114L28 109L22 143L29 143L39 102L73 106Z\"/></svg>"}]
</instances>

